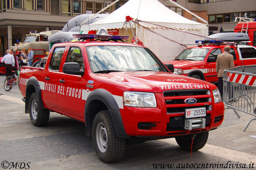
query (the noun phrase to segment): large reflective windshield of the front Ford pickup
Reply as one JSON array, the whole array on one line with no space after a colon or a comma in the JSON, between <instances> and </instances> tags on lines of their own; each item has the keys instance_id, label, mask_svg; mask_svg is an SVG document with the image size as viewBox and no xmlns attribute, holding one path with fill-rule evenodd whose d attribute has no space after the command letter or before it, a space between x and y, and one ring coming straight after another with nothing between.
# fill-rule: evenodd
<instances>
[{"instance_id":1,"label":"large reflective windshield of the front Ford pickup","mask_svg":"<svg viewBox=\"0 0 256 170\"><path fill-rule=\"evenodd\" d=\"M168 72L149 50L137 46L87 46L90 67L94 73L154 71Z\"/></svg>"}]
</instances>

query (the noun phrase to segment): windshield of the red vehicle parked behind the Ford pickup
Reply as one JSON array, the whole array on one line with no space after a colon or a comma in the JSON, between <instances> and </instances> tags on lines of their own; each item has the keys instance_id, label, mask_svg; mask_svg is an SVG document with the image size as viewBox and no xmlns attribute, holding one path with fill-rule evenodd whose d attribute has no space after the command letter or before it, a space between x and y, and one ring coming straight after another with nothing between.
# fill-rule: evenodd
<instances>
[{"instance_id":1,"label":"windshield of the red vehicle parked behind the Ford pickup","mask_svg":"<svg viewBox=\"0 0 256 170\"><path fill-rule=\"evenodd\" d=\"M209 49L203 48L185 49L175 60L203 61L208 52Z\"/></svg>"}]
</instances>

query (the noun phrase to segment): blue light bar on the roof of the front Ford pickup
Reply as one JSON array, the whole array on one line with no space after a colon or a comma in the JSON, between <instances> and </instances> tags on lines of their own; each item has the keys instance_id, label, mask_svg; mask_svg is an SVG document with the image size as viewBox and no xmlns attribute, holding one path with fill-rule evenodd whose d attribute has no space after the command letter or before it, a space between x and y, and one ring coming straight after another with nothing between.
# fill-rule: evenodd
<instances>
[{"instance_id":1,"label":"blue light bar on the roof of the front Ford pickup","mask_svg":"<svg viewBox=\"0 0 256 170\"><path fill-rule=\"evenodd\" d=\"M124 35L98 35L98 34L74 34L75 38L84 38L84 39L119 39L119 40L127 40L129 36Z\"/></svg>"}]
</instances>

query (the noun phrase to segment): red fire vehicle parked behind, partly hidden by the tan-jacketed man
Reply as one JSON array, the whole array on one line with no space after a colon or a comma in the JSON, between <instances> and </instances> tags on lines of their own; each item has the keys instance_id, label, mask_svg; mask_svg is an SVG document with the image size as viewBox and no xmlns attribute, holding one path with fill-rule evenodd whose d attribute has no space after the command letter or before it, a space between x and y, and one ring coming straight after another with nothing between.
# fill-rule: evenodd
<instances>
[{"instance_id":1,"label":"red fire vehicle parked behind, partly hidden by the tan-jacketed man","mask_svg":"<svg viewBox=\"0 0 256 170\"><path fill-rule=\"evenodd\" d=\"M224 52L226 45L204 44L189 47L183 50L173 61L165 63L173 64L175 74L186 75L204 81L215 83L218 81L216 72L217 56ZM234 56L234 65L256 64L256 47L249 45L228 45L230 54Z\"/></svg>"}]
</instances>

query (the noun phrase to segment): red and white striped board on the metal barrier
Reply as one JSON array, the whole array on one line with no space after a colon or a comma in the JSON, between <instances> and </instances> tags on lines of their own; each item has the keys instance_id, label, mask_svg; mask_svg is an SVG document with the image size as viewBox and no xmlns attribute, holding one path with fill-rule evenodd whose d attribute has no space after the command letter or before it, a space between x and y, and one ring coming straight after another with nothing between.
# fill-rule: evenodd
<instances>
[{"instance_id":1,"label":"red and white striped board on the metal barrier","mask_svg":"<svg viewBox=\"0 0 256 170\"><path fill-rule=\"evenodd\" d=\"M227 72L227 81L256 86L256 76Z\"/></svg>"}]
</instances>

